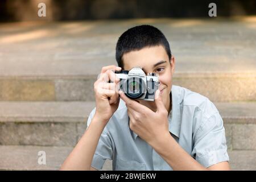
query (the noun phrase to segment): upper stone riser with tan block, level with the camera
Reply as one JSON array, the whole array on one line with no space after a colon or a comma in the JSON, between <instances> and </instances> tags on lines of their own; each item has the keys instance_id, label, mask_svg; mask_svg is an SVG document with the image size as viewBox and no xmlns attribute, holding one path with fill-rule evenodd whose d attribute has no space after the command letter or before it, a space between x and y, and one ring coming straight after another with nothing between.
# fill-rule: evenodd
<instances>
[{"instance_id":1,"label":"upper stone riser with tan block, level with the camera","mask_svg":"<svg viewBox=\"0 0 256 182\"><path fill-rule=\"evenodd\" d=\"M94 101L96 78L96 74L0 77L0 101ZM173 84L214 102L256 100L256 72L175 73Z\"/></svg>"}]
</instances>

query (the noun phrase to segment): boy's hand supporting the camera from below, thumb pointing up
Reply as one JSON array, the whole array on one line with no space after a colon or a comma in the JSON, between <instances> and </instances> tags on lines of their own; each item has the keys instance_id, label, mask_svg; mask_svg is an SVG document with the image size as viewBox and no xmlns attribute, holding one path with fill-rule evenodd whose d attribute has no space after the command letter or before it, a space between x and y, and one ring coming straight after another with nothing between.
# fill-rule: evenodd
<instances>
[{"instance_id":1,"label":"boy's hand supporting the camera from below, thumb pointing up","mask_svg":"<svg viewBox=\"0 0 256 182\"><path fill-rule=\"evenodd\" d=\"M131 100L122 91L119 91L119 94L122 100L126 102L127 113L130 118L130 129L139 137L151 146L154 146L159 140L170 134L168 129L168 111L163 104L159 90L155 93L156 112Z\"/></svg>"}]
</instances>

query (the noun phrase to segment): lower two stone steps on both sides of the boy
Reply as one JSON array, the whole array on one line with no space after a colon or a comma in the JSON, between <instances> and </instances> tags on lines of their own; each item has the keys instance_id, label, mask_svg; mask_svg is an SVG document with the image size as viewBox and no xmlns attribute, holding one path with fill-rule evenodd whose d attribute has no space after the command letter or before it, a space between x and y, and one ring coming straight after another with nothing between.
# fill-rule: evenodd
<instances>
[{"instance_id":1,"label":"lower two stone steps on both sides of the boy","mask_svg":"<svg viewBox=\"0 0 256 182\"><path fill-rule=\"evenodd\" d=\"M255 170L256 102L215 104L224 119L232 169ZM58 169L84 133L94 105L82 101L0 102L0 169ZM37 163L39 151L46 151L46 166ZM111 163L104 169L111 169Z\"/></svg>"}]
</instances>

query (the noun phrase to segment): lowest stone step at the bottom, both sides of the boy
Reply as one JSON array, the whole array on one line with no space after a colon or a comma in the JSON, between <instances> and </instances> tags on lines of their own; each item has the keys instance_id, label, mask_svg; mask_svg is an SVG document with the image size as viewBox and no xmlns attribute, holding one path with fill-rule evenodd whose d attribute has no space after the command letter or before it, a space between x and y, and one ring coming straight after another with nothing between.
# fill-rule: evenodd
<instances>
[{"instance_id":1,"label":"lowest stone step at the bottom, both sides of the boy","mask_svg":"<svg viewBox=\"0 0 256 182\"><path fill-rule=\"evenodd\" d=\"M40 151L45 152L45 164ZM71 151L72 147L0 146L0 170L58 170ZM228 154L233 170L256 170L256 151ZM112 161L106 160L102 170L112 170Z\"/></svg>"}]
</instances>

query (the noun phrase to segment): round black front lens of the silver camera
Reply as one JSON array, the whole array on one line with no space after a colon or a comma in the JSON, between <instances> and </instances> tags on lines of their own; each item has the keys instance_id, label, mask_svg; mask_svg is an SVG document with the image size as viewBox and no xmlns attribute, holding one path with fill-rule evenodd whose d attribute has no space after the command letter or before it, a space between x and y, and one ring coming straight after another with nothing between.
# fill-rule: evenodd
<instances>
[{"instance_id":1,"label":"round black front lens of the silver camera","mask_svg":"<svg viewBox=\"0 0 256 182\"><path fill-rule=\"evenodd\" d=\"M140 98L146 92L146 84L141 77L130 77L125 86L125 94L129 98Z\"/></svg>"}]
</instances>

